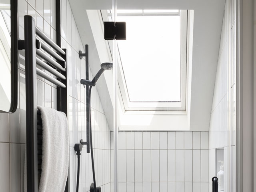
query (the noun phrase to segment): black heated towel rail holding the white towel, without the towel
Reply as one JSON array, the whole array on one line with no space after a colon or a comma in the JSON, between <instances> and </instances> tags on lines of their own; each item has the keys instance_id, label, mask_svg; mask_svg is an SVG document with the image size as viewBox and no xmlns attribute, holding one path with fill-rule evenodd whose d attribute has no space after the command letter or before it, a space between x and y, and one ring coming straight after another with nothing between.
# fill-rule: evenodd
<instances>
[{"instance_id":1,"label":"black heated towel rail holding the white towel, without the towel","mask_svg":"<svg viewBox=\"0 0 256 192\"><path fill-rule=\"evenodd\" d=\"M32 16L24 16L24 40L18 41L18 48L25 50L27 192L38 192L42 171L42 119L37 109L36 77L39 75L57 86L57 110L67 115L66 49L40 31ZM43 70L37 68L37 64Z\"/></svg>"}]
</instances>

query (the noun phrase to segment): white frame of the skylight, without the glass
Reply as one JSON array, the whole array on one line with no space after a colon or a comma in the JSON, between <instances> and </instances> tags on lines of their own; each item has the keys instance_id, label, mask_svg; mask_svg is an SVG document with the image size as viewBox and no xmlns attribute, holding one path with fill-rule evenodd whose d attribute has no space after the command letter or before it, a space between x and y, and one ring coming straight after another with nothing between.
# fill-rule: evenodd
<instances>
[{"instance_id":1,"label":"white frame of the skylight, without the glass","mask_svg":"<svg viewBox=\"0 0 256 192\"><path fill-rule=\"evenodd\" d=\"M140 13L142 16L143 13ZM175 13L147 13L152 15L180 15L180 75L181 75L181 101L180 102L131 102L129 100L128 89L125 82L124 71L122 69L122 62L118 52L118 85L120 88L119 96L122 98L125 111L159 111L159 110L186 110L186 86L187 86L187 41L188 41L188 10L179 10ZM108 13L110 16L111 13ZM118 13L118 16L138 16L138 13Z\"/></svg>"}]
</instances>

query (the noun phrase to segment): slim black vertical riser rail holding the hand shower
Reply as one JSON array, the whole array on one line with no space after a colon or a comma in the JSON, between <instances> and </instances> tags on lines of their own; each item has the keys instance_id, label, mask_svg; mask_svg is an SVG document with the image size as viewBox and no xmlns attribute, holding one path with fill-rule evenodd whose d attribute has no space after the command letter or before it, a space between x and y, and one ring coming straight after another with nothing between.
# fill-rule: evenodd
<instances>
[{"instance_id":1,"label":"slim black vertical riser rail holding the hand shower","mask_svg":"<svg viewBox=\"0 0 256 192\"><path fill-rule=\"evenodd\" d=\"M85 45L85 79L89 80L89 46ZM89 102L89 85L86 85L86 146L87 153L90 153L90 114L88 111L90 110L90 102Z\"/></svg>"}]
</instances>

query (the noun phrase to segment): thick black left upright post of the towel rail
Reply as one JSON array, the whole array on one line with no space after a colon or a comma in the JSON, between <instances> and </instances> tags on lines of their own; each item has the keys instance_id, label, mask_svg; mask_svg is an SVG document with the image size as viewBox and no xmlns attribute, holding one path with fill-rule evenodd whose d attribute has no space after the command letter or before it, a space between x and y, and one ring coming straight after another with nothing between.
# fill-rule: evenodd
<instances>
[{"instance_id":1,"label":"thick black left upright post of the towel rail","mask_svg":"<svg viewBox=\"0 0 256 192\"><path fill-rule=\"evenodd\" d=\"M27 191L38 191L36 28L32 16L24 16L26 68L26 158Z\"/></svg>"}]
</instances>

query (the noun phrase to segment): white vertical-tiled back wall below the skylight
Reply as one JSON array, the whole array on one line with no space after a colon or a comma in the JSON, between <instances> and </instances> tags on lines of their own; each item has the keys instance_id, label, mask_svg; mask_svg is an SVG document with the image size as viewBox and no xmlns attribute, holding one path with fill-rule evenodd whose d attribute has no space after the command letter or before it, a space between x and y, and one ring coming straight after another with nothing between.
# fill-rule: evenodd
<instances>
[{"instance_id":1,"label":"white vertical-tiled back wall below the skylight","mask_svg":"<svg viewBox=\"0 0 256 192\"><path fill-rule=\"evenodd\" d=\"M208 132L119 132L118 144L120 191L208 192Z\"/></svg>"}]
</instances>

